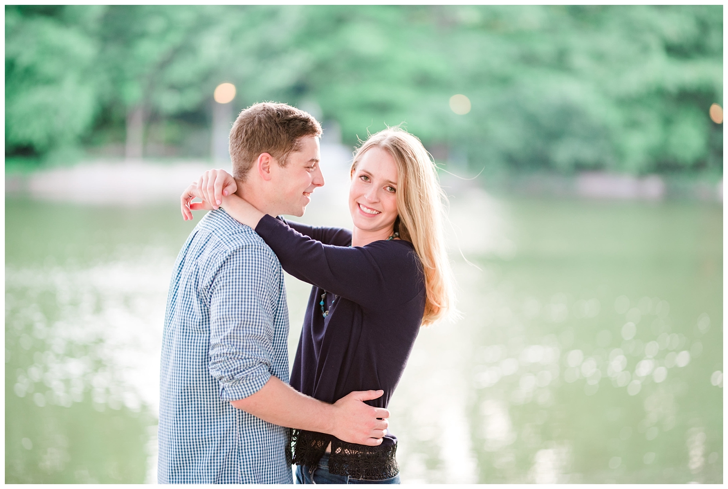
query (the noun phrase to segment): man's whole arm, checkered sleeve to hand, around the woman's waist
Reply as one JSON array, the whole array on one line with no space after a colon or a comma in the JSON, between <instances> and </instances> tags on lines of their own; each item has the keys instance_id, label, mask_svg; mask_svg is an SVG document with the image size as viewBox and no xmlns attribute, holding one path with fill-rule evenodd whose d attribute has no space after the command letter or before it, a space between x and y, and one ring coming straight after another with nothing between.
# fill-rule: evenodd
<instances>
[{"instance_id":1,"label":"man's whole arm, checkered sleeve to hand, around the woman's waist","mask_svg":"<svg viewBox=\"0 0 728 489\"><path fill-rule=\"evenodd\" d=\"M272 375L277 296L275 263L253 244L233 250L215 267L210 285L210 375L220 398L279 426L333 434L360 445L379 445L389 411L363 401L381 391L352 392L327 404L294 390ZM377 419L383 418L383 419Z\"/></svg>"}]
</instances>

